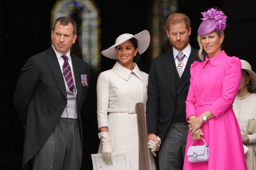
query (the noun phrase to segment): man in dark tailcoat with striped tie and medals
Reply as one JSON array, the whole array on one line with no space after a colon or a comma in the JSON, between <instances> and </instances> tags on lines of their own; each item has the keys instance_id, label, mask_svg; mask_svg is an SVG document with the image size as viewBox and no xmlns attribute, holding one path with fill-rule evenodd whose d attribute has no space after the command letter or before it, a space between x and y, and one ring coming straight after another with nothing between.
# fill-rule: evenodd
<instances>
[{"instance_id":1,"label":"man in dark tailcoat with striped tie and medals","mask_svg":"<svg viewBox=\"0 0 256 170\"><path fill-rule=\"evenodd\" d=\"M27 60L14 91L25 131L22 167L79 170L82 164L81 107L88 92L89 66L70 53L76 23L59 17L52 46Z\"/></svg>"}]
</instances>

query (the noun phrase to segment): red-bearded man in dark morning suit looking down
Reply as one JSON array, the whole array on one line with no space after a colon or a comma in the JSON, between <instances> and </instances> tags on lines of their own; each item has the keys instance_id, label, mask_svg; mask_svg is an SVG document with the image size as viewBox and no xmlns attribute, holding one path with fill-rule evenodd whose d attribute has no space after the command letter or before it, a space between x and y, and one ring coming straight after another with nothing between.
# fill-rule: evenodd
<instances>
[{"instance_id":1,"label":"red-bearded man in dark morning suit looking down","mask_svg":"<svg viewBox=\"0 0 256 170\"><path fill-rule=\"evenodd\" d=\"M188 135L185 101L190 66L199 58L197 50L189 45L191 27L185 14L170 15L166 27L173 48L151 63L146 107L148 140L155 156L159 150L160 170L182 170Z\"/></svg>"}]
</instances>

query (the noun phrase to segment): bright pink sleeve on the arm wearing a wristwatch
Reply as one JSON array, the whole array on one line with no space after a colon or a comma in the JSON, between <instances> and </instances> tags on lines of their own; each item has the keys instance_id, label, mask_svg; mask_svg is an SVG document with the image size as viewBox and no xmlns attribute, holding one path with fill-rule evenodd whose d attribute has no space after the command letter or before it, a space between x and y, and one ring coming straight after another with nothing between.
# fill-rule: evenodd
<instances>
[{"instance_id":1,"label":"bright pink sleeve on the arm wearing a wristwatch","mask_svg":"<svg viewBox=\"0 0 256 170\"><path fill-rule=\"evenodd\" d=\"M242 77L241 69L242 64L237 57L233 56L228 59L228 64L225 66L221 97L208 108L216 118L219 118L232 106Z\"/></svg>"}]
</instances>

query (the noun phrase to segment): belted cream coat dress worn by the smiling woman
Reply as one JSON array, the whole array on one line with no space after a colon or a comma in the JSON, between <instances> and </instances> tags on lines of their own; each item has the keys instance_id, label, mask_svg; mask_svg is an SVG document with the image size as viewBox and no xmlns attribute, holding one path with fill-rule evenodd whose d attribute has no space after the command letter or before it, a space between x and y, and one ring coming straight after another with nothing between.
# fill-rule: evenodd
<instances>
[{"instance_id":1,"label":"belted cream coat dress worn by the smiling woman","mask_svg":"<svg viewBox=\"0 0 256 170\"><path fill-rule=\"evenodd\" d=\"M146 106L148 74L141 72L136 63L133 66L134 69L129 70L117 61L112 69L100 73L97 82L97 118L98 128L108 127L112 152L127 151L130 170L139 170L135 104L142 102ZM128 108L130 112L110 112L109 108ZM99 153L102 153L101 143ZM155 170L155 163L151 162Z\"/></svg>"}]
</instances>

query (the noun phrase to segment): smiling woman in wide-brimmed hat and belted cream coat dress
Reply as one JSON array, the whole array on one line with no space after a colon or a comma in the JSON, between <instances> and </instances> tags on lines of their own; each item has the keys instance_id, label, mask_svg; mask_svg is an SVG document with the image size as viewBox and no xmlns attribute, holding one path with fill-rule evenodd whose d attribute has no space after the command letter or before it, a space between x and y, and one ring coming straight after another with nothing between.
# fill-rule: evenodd
<instances>
[{"instance_id":1,"label":"smiling woman in wide-brimmed hat and belted cream coat dress","mask_svg":"<svg viewBox=\"0 0 256 170\"><path fill-rule=\"evenodd\" d=\"M136 60L149 46L150 35L123 34L115 45L103 50L114 67L100 73L97 81L97 118L101 139L99 153L106 164L113 164L112 152L128 152L130 170L139 170L139 135L135 104L146 106L148 74L139 70ZM109 112L109 113L108 113ZM152 160L151 166L155 170Z\"/></svg>"}]
</instances>

